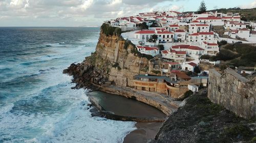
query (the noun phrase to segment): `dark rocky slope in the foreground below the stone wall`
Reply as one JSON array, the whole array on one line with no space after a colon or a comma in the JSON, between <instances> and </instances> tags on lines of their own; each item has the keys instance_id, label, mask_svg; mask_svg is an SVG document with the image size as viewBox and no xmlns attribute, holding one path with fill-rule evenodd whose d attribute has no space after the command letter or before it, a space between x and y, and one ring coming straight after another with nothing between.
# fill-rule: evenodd
<instances>
[{"instance_id":1,"label":"dark rocky slope in the foreground below the stone wall","mask_svg":"<svg viewBox=\"0 0 256 143\"><path fill-rule=\"evenodd\" d=\"M256 142L254 120L239 118L210 102L206 94L192 95L163 123L155 140L165 142Z\"/></svg>"}]
</instances>

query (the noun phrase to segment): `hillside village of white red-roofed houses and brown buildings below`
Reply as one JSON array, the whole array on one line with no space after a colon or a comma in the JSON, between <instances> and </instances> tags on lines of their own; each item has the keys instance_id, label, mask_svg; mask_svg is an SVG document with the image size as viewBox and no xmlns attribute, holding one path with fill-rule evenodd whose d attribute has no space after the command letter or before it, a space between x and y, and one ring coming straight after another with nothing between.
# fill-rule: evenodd
<instances>
[{"instance_id":1,"label":"hillside village of white red-roofed houses and brown buildings below","mask_svg":"<svg viewBox=\"0 0 256 143\"><path fill-rule=\"evenodd\" d=\"M202 62L216 65L220 61L201 57L217 55L219 42L256 43L256 24L243 21L238 13L232 12L146 12L104 23L120 27L121 36L135 44L138 52L160 61L150 65L151 73L134 77L135 89L176 99L189 90L197 92L207 87L209 71L200 71L199 65ZM216 26L223 28L225 38L213 31Z\"/></svg>"}]
</instances>

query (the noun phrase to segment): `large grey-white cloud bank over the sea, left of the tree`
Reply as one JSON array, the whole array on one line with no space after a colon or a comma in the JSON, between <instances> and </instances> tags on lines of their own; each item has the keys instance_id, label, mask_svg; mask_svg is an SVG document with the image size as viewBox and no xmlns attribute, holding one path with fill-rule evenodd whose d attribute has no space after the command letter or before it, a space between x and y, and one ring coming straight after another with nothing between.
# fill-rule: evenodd
<instances>
[{"instance_id":1,"label":"large grey-white cloud bank over the sea, left of the tree","mask_svg":"<svg viewBox=\"0 0 256 143\"><path fill-rule=\"evenodd\" d=\"M173 2L185 0L0 0L1 19L96 21L136 15L153 10L176 10ZM38 20L39 19L39 20ZM1 23L0 23L1 25ZM83 23L83 25L85 25Z\"/></svg>"}]
</instances>

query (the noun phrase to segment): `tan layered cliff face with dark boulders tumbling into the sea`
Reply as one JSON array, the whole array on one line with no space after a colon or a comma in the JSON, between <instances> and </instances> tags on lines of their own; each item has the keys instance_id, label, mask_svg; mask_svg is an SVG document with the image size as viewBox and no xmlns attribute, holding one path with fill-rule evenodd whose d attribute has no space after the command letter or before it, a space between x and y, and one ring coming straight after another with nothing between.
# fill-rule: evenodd
<instances>
[{"instance_id":1,"label":"tan layered cliff face with dark boulders tumbling into the sea","mask_svg":"<svg viewBox=\"0 0 256 143\"><path fill-rule=\"evenodd\" d=\"M118 35L106 35L101 30L96 51L79 64L63 70L73 75L76 88L90 88L90 83L133 86L136 74L145 74L150 61L138 55L135 46Z\"/></svg>"}]
</instances>

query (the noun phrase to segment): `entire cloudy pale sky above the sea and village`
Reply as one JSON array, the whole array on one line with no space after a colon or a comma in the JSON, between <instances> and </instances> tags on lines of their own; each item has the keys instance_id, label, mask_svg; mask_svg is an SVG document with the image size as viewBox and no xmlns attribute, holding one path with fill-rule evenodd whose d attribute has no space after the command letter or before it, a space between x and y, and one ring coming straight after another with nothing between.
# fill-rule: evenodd
<instances>
[{"instance_id":1,"label":"entire cloudy pale sky above the sea and village","mask_svg":"<svg viewBox=\"0 0 256 143\"><path fill-rule=\"evenodd\" d=\"M255 8L256 0L205 0L207 10ZM197 11L201 0L0 0L0 26L97 26L139 12Z\"/></svg>"}]
</instances>

